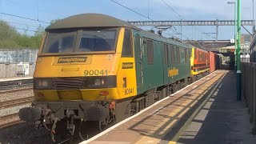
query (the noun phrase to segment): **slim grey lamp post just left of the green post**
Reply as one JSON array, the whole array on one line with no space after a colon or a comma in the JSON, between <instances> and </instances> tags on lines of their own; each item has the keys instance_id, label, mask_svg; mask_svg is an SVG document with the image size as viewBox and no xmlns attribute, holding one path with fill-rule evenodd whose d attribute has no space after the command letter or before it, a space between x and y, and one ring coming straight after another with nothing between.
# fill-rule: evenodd
<instances>
[{"instance_id":1,"label":"slim grey lamp post just left of the green post","mask_svg":"<svg viewBox=\"0 0 256 144\"><path fill-rule=\"evenodd\" d=\"M227 2L228 5L234 4L234 50L237 50L237 2ZM234 70L237 70L237 54L234 52Z\"/></svg>"}]
</instances>

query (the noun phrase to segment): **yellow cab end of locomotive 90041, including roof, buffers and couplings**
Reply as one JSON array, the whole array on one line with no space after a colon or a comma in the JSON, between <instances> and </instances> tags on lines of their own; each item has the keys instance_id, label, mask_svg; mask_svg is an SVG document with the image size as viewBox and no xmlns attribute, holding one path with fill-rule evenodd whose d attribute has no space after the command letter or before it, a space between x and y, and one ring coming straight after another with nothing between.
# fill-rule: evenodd
<instances>
[{"instance_id":1,"label":"yellow cab end of locomotive 90041, including roof, buffers and couplings","mask_svg":"<svg viewBox=\"0 0 256 144\"><path fill-rule=\"evenodd\" d=\"M114 121L116 102L136 95L134 58L122 57L126 46L133 55L131 39L122 21L102 14L79 14L47 27L34 70L36 101L19 117L46 126L53 140L63 119L71 133L75 119ZM124 63L128 68L122 69Z\"/></svg>"}]
</instances>

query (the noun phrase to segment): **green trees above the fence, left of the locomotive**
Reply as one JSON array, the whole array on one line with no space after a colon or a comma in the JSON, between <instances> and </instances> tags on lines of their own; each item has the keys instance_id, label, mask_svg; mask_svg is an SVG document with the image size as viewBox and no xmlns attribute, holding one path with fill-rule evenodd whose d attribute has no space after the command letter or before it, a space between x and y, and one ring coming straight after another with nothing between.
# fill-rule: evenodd
<instances>
[{"instance_id":1,"label":"green trees above the fence, left of the locomotive","mask_svg":"<svg viewBox=\"0 0 256 144\"><path fill-rule=\"evenodd\" d=\"M14 27L7 22L0 21L0 49L1 48L35 48L38 49L42 43L42 36L44 28L38 26L34 35L27 35L18 33Z\"/></svg>"}]
</instances>

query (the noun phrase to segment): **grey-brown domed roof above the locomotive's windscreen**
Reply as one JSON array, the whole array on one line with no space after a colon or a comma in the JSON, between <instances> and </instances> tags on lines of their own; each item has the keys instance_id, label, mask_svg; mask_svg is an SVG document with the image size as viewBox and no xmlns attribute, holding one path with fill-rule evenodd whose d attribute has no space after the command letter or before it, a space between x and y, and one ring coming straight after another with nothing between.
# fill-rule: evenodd
<instances>
[{"instance_id":1,"label":"grey-brown domed roof above the locomotive's windscreen","mask_svg":"<svg viewBox=\"0 0 256 144\"><path fill-rule=\"evenodd\" d=\"M105 14L77 14L64 18L54 24L46 27L46 30L81 28L81 27L119 27L126 26L141 30L128 22L122 21Z\"/></svg>"}]
</instances>

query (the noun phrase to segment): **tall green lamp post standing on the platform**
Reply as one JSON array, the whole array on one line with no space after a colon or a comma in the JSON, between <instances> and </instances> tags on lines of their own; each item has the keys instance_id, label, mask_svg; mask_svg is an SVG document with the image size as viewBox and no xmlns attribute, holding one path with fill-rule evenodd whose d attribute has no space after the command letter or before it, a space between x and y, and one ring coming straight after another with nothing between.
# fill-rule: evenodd
<instances>
[{"instance_id":1,"label":"tall green lamp post standing on the platform","mask_svg":"<svg viewBox=\"0 0 256 144\"><path fill-rule=\"evenodd\" d=\"M237 49L236 53L237 54L237 100L241 101L242 100L242 73L241 73L241 56L240 56L240 49L241 49L241 0L237 0L237 5L238 5L238 15L237 15L237 20L238 20L238 34L237 34Z\"/></svg>"}]
</instances>

